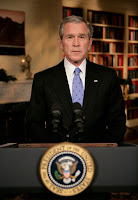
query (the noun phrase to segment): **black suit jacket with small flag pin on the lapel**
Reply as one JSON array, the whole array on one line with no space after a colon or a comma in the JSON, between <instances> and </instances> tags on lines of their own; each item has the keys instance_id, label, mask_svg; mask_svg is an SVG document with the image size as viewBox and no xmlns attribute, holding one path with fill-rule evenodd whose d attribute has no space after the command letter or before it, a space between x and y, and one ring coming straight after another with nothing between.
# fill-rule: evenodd
<instances>
[{"instance_id":1,"label":"black suit jacket with small flag pin on the lapel","mask_svg":"<svg viewBox=\"0 0 138 200\"><path fill-rule=\"evenodd\" d=\"M28 131L33 142L59 142L48 131L51 107L55 103L61 105L64 127L71 127L72 99L63 61L34 76L27 115ZM123 139L126 130L124 101L115 70L87 60L82 109L85 133L76 142L119 143Z\"/></svg>"}]
</instances>

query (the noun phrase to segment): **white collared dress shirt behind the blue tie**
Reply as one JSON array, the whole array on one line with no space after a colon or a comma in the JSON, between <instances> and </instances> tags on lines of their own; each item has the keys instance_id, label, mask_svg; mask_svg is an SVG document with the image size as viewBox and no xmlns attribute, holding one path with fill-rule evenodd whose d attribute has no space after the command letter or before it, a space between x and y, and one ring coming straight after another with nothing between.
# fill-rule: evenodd
<instances>
[{"instance_id":1,"label":"white collared dress shirt behind the blue tie","mask_svg":"<svg viewBox=\"0 0 138 200\"><path fill-rule=\"evenodd\" d=\"M64 67L65 67L65 72L69 84L69 89L70 89L70 94L72 96L72 82L74 78L74 70L76 68L75 65L71 64L67 58L65 57L64 59ZM82 61L82 63L79 65L79 68L81 69L80 71L80 78L83 83L83 89L85 90L85 74L86 74L86 58Z\"/></svg>"}]
</instances>

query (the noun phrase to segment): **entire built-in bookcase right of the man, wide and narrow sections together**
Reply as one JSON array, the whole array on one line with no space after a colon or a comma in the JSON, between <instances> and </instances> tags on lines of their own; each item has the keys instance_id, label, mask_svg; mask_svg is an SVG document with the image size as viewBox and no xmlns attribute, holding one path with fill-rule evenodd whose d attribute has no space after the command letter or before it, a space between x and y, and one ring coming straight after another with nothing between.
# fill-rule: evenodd
<instances>
[{"instance_id":1,"label":"entire built-in bookcase right of the man, wide and narrow sections together","mask_svg":"<svg viewBox=\"0 0 138 200\"><path fill-rule=\"evenodd\" d=\"M94 29L93 44L88 59L114 68L120 79L131 80L128 93L135 94L136 98L125 100L127 125L136 126L138 124L138 16L87 10L87 20Z\"/></svg>"}]
</instances>

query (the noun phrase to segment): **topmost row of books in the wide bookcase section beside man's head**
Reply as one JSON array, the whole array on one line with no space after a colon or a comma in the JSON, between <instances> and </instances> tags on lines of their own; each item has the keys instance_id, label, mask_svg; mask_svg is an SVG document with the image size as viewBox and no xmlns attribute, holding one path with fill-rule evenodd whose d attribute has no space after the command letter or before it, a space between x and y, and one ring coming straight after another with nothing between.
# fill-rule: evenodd
<instances>
[{"instance_id":1,"label":"topmost row of books in the wide bookcase section beside man's head","mask_svg":"<svg viewBox=\"0 0 138 200\"><path fill-rule=\"evenodd\" d=\"M110 12L96 12L88 10L87 19L91 23L124 26L124 15Z\"/></svg>"}]
</instances>

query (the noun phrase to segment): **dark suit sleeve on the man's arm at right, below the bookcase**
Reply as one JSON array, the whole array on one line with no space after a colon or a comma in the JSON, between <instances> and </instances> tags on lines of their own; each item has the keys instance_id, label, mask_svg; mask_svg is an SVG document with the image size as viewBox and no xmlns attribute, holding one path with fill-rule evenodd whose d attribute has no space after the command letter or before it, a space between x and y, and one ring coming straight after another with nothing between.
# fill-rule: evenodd
<instances>
[{"instance_id":1,"label":"dark suit sleeve on the man's arm at right, below the bookcase","mask_svg":"<svg viewBox=\"0 0 138 200\"><path fill-rule=\"evenodd\" d=\"M126 131L125 106L119 79L113 71L111 91L108 96L106 141L120 143Z\"/></svg>"}]
</instances>

